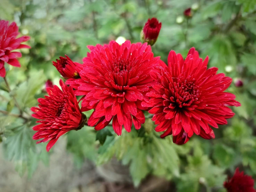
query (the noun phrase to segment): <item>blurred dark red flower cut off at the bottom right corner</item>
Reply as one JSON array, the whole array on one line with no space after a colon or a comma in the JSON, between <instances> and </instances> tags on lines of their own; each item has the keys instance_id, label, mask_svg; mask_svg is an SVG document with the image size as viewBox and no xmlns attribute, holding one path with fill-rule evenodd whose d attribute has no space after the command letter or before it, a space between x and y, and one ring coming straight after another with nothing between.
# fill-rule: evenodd
<instances>
[{"instance_id":1,"label":"blurred dark red flower cut off at the bottom right corner","mask_svg":"<svg viewBox=\"0 0 256 192\"><path fill-rule=\"evenodd\" d=\"M236 169L233 177L225 181L223 185L228 192L256 192L253 178L244 175L243 171L240 173L239 168Z\"/></svg>"}]
</instances>

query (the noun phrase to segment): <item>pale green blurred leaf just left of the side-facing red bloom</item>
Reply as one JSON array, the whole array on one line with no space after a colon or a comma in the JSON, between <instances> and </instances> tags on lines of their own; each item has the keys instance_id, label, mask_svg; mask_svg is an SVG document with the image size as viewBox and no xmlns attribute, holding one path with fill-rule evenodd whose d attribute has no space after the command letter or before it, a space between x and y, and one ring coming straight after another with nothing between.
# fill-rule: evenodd
<instances>
[{"instance_id":1,"label":"pale green blurred leaf just left of the side-facing red bloom","mask_svg":"<svg viewBox=\"0 0 256 192\"><path fill-rule=\"evenodd\" d=\"M45 82L45 76L43 70L33 71L30 74L30 78L19 85L16 94L20 107L32 107L36 104L35 94L42 88Z\"/></svg>"}]
</instances>

